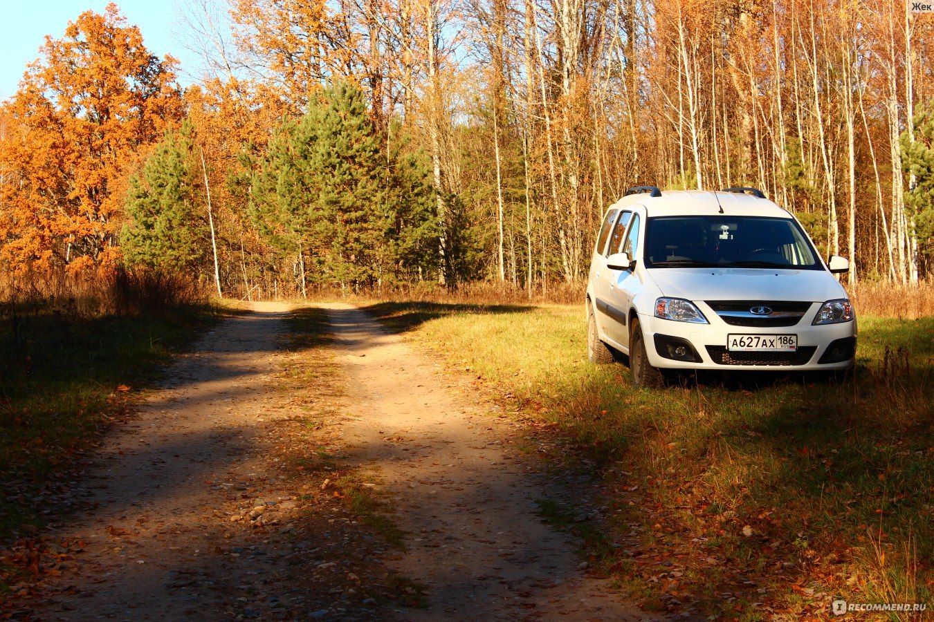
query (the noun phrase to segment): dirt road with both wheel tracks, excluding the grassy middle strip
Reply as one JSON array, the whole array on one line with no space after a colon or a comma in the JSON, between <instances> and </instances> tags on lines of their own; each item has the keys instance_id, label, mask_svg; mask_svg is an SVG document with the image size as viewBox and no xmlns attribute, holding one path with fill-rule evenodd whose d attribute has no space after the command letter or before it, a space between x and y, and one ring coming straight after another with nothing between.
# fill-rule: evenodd
<instances>
[{"instance_id":1,"label":"dirt road with both wheel tracks, excluding the grassy middle strip","mask_svg":"<svg viewBox=\"0 0 934 622\"><path fill-rule=\"evenodd\" d=\"M335 429L343 459L381 478L406 532L404 550L355 533L347 509L333 505L339 501L308 501L307 485L296 491L300 482L286 476L270 440L295 414L276 390L287 311L262 304L221 323L146 395L134 422L110 435L86 491L96 509L54 534L68 543L70 561L49 581L49 596L23 613L644 618L588 577L573 544L536 518L548 480L504 447L504 424L347 305L328 307L347 384ZM359 552L368 568L346 556L325 561L341 549ZM425 587L423 608L380 599L377 587L368 598L378 577L366 573L384 568ZM335 577L356 584L334 589Z\"/></svg>"}]
</instances>

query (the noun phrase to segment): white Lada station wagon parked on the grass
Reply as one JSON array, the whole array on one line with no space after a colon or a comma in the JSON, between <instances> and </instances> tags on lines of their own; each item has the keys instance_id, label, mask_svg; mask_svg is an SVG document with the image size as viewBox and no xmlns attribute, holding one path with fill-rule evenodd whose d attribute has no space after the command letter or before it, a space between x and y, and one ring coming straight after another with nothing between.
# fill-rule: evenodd
<instances>
[{"instance_id":1,"label":"white Lada station wagon parked on the grass","mask_svg":"<svg viewBox=\"0 0 934 622\"><path fill-rule=\"evenodd\" d=\"M587 356L663 372L844 370L856 314L793 214L756 188L630 188L606 212L587 280Z\"/></svg>"}]
</instances>

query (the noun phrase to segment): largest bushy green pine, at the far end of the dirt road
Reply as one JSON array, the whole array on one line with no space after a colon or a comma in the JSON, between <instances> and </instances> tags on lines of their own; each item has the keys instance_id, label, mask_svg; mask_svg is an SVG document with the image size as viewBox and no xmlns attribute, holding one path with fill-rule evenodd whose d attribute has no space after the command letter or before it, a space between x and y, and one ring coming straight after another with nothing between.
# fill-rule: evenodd
<instances>
[{"instance_id":1,"label":"largest bushy green pine, at the far end of the dirt road","mask_svg":"<svg viewBox=\"0 0 934 622\"><path fill-rule=\"evenodd\" d=\"M309 280L358 287L423 265L436 235L427 168L381 145L361 91L347 84L324 90L270 141L250 214L303 270L307 256Z\"/></svg>"}]
</instances>

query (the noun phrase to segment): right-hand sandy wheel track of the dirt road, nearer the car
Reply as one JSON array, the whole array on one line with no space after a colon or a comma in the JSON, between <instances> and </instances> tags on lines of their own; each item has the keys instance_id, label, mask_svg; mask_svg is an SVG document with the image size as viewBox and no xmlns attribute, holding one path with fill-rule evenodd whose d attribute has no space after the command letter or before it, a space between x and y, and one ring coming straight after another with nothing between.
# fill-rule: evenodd
<instances>
[{"instance_id":1,"label":"right-hand sandy wheel track of the dirt road, nearer the car","mask_svg":"<svg viewBox=\"0 0 934 622\"><path fill-rule=\"evenodd\" d=\"M379 467L409 532L389 564L429 587L428 608L401 617L645 617L580 571L573 545L536 517L546 480L504 449L496 418L366 313L328 310L357 415L345 439L355 460Z\"/></svg>"}]
</instances>

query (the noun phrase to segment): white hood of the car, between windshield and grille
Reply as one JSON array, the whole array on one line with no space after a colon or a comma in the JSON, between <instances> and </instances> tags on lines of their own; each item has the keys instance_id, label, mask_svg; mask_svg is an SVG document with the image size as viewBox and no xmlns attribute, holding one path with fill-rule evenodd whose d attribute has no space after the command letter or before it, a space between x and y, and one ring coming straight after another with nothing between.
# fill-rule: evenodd
<instances>
[{"instance_id":1,"label":"white hood of the car, between windshield and grille","mask_svg":"<svg viewBox=\"0 0 934 622\"><path fill-rule=\"evenodd\" d=\"M846 297L826 270L656 268L647 270L662 296L686 300L800 300Z\"/></svg>"}]
</instances>

